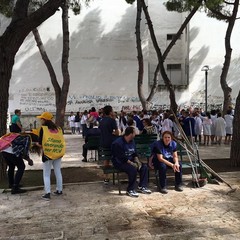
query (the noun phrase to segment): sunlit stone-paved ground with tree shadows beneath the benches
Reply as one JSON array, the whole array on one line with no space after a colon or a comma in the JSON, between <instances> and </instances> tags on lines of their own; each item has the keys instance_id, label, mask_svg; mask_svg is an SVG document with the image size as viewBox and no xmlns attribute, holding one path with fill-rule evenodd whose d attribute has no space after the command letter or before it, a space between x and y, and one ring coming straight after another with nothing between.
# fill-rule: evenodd
<instances>
[{"instance_id":1,"label":"sunlit stone-paved ground with tree shadows beneath the benches","mask_svg":"<svg viewBox=\"0 0 240 240\"><path fill-rule=\"evenodd\" d=\"M63 166L82 163L79 136L67 136ZM217 148L217 149L216 149ZM206 150L208 149L208 150ZM228 157L227 146L200 150ZM203 155L203 154L202 154ZM203 158L203 157L202 157ZM35 163L35 168L40 167ZM14 239L240 239L240 172L221 173L232 185L207 184L193 188L191 176L184 176L179 193L169 184L169 193L157 192L139 198L118 194L116 186L100 182L67 185L62 196L46 202L42 190L21 195L0 194L0 240ZM125 186L123 186L125 188ZM54 187L53 187L54 189Z\"/></svg>"}]
</instances>

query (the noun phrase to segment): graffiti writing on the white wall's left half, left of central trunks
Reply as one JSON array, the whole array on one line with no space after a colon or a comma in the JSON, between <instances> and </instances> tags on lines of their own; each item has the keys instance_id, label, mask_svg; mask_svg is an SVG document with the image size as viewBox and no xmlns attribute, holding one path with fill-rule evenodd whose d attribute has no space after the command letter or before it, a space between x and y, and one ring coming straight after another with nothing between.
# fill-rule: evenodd
<instances>
[{"instance_id":1,"label":"graffiti writing on the white wall's left half, left of central trunks","mask_svg":"<svg viewBox=\"0 0 240 240\"><path fill-rule=\"evenodd\" d=\"M22 112L55 111L55 93L49 87L23 88L19 91L19 104ZM108 95L80 95L69 94L66 111L84 111L91 107L96 109L112 105L115 111L122 109L132 111L141 110L138 97L108 96Z\"/></svg>"}]
</instances>

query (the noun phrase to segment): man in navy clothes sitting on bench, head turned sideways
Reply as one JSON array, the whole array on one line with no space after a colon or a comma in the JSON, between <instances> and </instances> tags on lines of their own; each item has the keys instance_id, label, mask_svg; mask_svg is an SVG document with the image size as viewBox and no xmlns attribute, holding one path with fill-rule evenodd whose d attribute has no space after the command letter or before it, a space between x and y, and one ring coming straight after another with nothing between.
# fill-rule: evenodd
<instances>
[{"instance_id":1,"label":"man in navy clothes sitting on bench, head turned sideways","mask_svg":"<svg viewBox=\"0 0 240 240\"><path fill-rule=\"evenodd\" d=\"M127 195L130 197L138 197L135 191L137 173L140 175L138 191L150 194L147 188L148 168L146 164L142 164L136 153L134 143L135 131L133 127L127 127L123 136L117 138L111 147L112 163L115 168L124 171L128 175Z\"/></svg>"}]
</instances>

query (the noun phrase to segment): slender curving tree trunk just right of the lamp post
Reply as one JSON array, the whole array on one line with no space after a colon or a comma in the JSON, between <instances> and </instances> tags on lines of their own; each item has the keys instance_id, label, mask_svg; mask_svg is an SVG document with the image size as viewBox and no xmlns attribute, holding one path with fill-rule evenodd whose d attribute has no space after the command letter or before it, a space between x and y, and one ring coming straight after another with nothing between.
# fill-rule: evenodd
<instances>
[{"instance_id":1,"label":"slender curving tree trunk just right of the lamp post","mask_svg":"<svg viewBox=\"0 0 240 240\"><path fill-rule=\"evenodd\" d=\"M236 0L234 2L232 16L228 20L228 27L227 27L226 36L225 36L226 54L225 54L225 60L224 60L224 63L223 63L222 73L221 73L221 76L220 76L220 83L221 83L221 87L222 87L223 95L224 95L223 115L226 114L229 106L232 105L232 98L231 98L232 89L227 84L227 75L228 75L228 70L229 70L229 67L230 67L231 56L232 56L232 48L231 48L231 42L230 41L231 41L231 35L232 35L233 27L234 27L234 24L235 24L235 21L236 21L238 6L239 6L239 0Z\"/></svg>"}]
</instances>

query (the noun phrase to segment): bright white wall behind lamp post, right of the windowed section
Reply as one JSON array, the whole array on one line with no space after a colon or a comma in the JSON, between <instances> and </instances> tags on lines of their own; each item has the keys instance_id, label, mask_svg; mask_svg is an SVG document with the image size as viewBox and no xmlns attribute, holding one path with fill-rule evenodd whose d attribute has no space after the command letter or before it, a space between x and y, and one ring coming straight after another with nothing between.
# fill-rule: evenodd
<instances>
[{"instance_id":1,"label":"bright white wall behind lamp post, right of the windowed section","mask_svg":"<svg viewBox=\"0 0 240 240\"><path fill-rule=\"evenodd\" d=\"M227 76L227 83L232 88L232 98L235 102L240 90L239 54L240 54L240 23L236 21L232 39L232 60ZM205 72L201 71L204 65L209 65L208 72L208 103L221 104L223 93L220 85L220 75L225 56L225 32L227 24L205 16L198 12L190 24L190 85L189 99L192 102L204 101ZM184 96L181 98L183 101Z\"/></svg>"}]
</instances>

